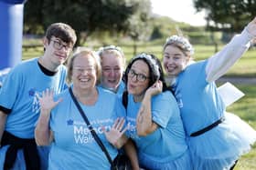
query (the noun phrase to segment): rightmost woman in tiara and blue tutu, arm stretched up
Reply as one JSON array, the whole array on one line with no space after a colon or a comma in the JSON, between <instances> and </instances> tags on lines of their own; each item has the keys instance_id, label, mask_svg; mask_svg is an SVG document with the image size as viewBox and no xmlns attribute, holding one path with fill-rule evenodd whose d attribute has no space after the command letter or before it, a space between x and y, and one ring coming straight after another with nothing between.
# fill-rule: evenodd
<instances>
[{"instance_id":1,"label":"rightmost woman in tiara and blue tutu, arm stretched up","mask_svg":"<svg viewBox=\"0 0 256 170\"><path fill-rule=\"evenodd\" d=\"M181 111L194 169L233 169L256 140L250 125L226 113L215 85L255 36L256 17L219 53L200 62L191 62L194 50L186 38L173 35L165 42L163 64Z\"/></svg>"}]
</instances>

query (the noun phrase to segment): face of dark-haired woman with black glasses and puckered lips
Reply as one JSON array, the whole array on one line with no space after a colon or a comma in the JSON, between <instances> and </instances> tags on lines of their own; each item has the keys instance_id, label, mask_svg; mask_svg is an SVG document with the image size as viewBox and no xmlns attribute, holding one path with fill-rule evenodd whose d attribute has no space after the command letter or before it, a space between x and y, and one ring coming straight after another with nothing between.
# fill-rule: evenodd
<instances>
[{"instance_id":1,"label":"face of dark-haired woman with black glasses and puckered lips","mask_svg":"<svg viewBox=\"0 0 256 170\"><path fill-rule=\"evenodd\" d=\"M143 60L136 60L127 75L127 90L132 94L134 101L143 99L144 91L149 85L149 67Z\"/></svg>"}]
</instances>

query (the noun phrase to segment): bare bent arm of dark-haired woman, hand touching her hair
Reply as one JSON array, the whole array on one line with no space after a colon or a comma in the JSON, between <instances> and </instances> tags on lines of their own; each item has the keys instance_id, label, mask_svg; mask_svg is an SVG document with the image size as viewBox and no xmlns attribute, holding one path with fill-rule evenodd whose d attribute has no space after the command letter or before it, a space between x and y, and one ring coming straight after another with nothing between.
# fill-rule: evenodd
<instances>
[{"instance_id":1,"label":"bare bent arm of dark-haired woman, hand touching her hair","mask_svg":"<svg viewBox=\"0 0 256 170\"><path fill-rule=\"evenodd\" d=\"M156 81L154 85L146 90L136 119L137 135L149 135L158 127L152 120L151 99L153 95L161 93L162 88L162 82Z\"/></svg>"}]
</instances>

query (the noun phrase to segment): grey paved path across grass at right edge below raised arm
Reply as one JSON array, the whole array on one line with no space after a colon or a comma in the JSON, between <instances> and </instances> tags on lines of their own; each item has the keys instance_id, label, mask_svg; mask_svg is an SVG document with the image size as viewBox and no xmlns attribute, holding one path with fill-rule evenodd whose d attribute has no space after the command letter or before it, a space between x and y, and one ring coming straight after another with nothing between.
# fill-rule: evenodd
<instances>
[{"instance_id":1,"label":"grey paved path across grass at right edge below raised arm","mask_svg":"<svg viewBox=\"0 0 256 170\"><path fill-rule=\"evenodd\" d=\"M237 85L256 85L256 77L220 77L217 83L226 83Z\"/></svg>"}]
</instances>

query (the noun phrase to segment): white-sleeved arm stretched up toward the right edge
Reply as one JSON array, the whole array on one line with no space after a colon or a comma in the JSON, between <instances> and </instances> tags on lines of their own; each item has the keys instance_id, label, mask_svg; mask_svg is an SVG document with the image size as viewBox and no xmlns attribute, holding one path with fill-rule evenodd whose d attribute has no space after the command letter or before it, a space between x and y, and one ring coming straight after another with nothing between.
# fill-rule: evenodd
<instances>
[{"instance_id":1,"label":"white-sleeved arm stretched up toward the right edge","mask_svg":"<svg viewBox=\"0 0 256 170\"><path fill-rule=\"evenodd\" d=\"M244 28L240 35L232 38L228 45L208 59L206 66L207 81L213 82L226 74L250 47L250 41L256 36L256 17Z\"/></svg>"}]
</instances>

